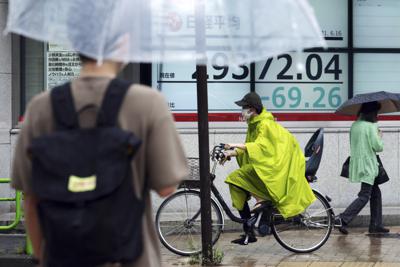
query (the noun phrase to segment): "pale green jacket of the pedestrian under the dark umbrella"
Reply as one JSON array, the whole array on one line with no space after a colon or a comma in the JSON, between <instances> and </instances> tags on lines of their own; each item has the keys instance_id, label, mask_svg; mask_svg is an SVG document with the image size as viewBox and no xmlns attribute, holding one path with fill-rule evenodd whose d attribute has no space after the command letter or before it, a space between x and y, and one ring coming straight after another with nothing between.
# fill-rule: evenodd
<instances>
[{"instance_id":1,"label":"pale green jacket of the pedestrian under the dark umbrella","mask_svg":"<svg viewBox=\"0 0 400 267\"><path fill-rule=\"evenodd\" d=\"M376 123L357 120L350 129L350 178L351 182L374 184L378 175L376 152L383 150Z\"/></svg>"}]
</instances>

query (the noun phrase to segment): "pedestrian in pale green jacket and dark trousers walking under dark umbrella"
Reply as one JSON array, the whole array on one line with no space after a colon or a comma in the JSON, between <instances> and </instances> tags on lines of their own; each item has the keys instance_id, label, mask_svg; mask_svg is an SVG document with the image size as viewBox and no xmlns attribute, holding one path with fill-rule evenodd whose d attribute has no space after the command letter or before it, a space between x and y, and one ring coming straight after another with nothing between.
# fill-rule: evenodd
<instances>
[{"instance_id":1,"label":"pedestrian in pale green jacket and dark trousers walking under dark umbrella","mask_svg":"<svg viewBox=\"0 0 400 267\"><path fill-rule=\"evenodd\" d=\"M387 233L382 224L382 196L379 185L374 183L378 176L376 153L383 151L382 134L378 130L378 111L381 105L374 101L362 104L358 119L350 129L349 181L361 183L358 197L339 215L339 231L348 234L346 226L370 201L370 233Z\"/></svg>"}]
</instances>

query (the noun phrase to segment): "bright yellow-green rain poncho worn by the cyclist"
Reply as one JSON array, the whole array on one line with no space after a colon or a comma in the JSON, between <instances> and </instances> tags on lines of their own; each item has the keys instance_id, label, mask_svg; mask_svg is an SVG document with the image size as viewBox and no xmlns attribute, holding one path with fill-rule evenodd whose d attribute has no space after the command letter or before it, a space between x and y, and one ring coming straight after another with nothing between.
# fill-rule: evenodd
<instances>
[{"instance_id":1,"label":"bright yellow-green rain poncho worn by the cyclist","mask_svg":"<svg viewBox=\"0 0 400 267\"><path fill-rule=\"evenodd\" d=\"M254 167L284 217L303 212L315 200L297 140L265 109L249 121L246 148L237 157L239 165Z\"/></svg>"}]
</instances>

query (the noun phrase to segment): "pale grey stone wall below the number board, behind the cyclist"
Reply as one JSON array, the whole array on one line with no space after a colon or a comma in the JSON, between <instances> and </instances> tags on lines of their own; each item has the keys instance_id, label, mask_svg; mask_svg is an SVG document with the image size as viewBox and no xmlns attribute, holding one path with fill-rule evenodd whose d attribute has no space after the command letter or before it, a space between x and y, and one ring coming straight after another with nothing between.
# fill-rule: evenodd
<instances>
[{"instance_id":1,"label":"pale grey stone wall below the number board, behind the cyclist","mask_svg":"<svg viewBox=\"0 0 400 267\"><path fill-rule=\"evenodd\" d=\"M289 128L296 136L301 147L305 147L307 141L317 128ZM400 179L399 176L399 149L400 129L394 127L381 127L383 130L384 151L380 154L390 181L381 186L383 214L388 224L396 223L395 219L400 215ZM180 129L180 136L188 157L198 157L198 136L196 130ZM219 143L241 143L245 139L245 128L241 129L210 129L210 150L214 144ZM312 187L324 195L328 195L332 201L335 214L339 214L356 197L359 183L350 183L347 179L340 177L343 162L349 156L349 127L325 128L324 150L321 165L317 172L318 180ZM212 165L211 165L212 166ZM228 185L224 183L225 177L237 168L234 160L227 162L224 166L217 166L215 184L222 193L224 199L231 206ZM162 199L153 195L153 208L157 209ZM369 215L369 205L361 212ZM396 216L393 216L396 215ZM368 223L367 218L358 223Z\"/></svg>"}]
</instances>

